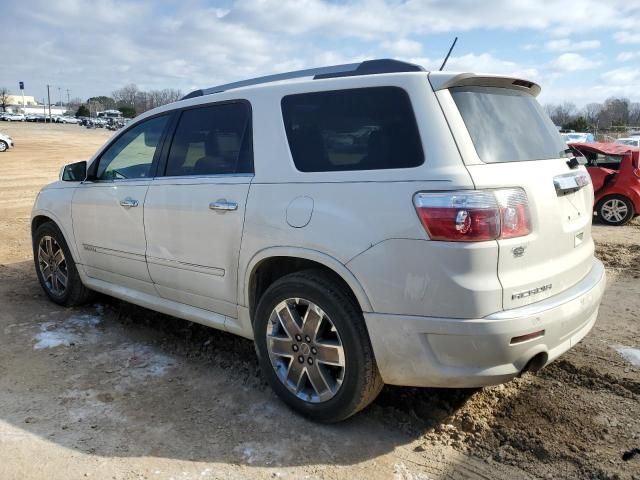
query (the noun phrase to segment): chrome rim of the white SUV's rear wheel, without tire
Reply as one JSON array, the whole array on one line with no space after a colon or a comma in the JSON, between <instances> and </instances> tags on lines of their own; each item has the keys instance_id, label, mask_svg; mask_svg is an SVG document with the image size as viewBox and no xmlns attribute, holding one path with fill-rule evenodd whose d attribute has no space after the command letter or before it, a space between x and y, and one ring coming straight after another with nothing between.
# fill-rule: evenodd
<instances>
[{"instance_id":1,"label":"chrome rim of the white SUV's rear wheel, without tire","mask_svg":"<svg viewBox=\"0 0 640 480\"><path fill-rule=\"evenodd\" d=\"M344 379L344 348L320 307L302 298L280 302L271 312L266 335L271 365L289 391L311 403L336 395Z\"/></svg>"}]
</instances>

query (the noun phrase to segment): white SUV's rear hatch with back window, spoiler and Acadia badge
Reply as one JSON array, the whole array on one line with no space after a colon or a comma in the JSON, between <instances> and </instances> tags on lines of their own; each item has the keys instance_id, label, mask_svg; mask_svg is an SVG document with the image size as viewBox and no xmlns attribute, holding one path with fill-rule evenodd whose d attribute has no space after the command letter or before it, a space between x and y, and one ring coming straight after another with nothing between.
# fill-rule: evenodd
<instances>
[{"instance_id":1,"label":"white SUV's rear hatch with back window, spoiler and Acadia badge","mask_svg":"<svg viewBox=\"0 0 640 480\"><path fill-rule=\"evenodd\" d=\"M530 233L496 240L503 308L578 283L593 265L593 189L535 99L539 87L504 77L433 75L476 189L516 187L527 196Z\"/></svg>"}]
</instances>

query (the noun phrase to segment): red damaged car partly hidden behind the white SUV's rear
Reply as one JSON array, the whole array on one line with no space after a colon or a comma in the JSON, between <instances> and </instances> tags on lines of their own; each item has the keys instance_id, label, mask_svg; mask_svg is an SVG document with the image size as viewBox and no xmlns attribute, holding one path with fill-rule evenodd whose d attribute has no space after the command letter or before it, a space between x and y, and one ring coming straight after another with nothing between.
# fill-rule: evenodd
<instances>
[{"instance_id":1,"label":"red damaged car partly hidden behind the white SUV's rear","mask_svg":"<svg viewBox=\"0 0 640 480\"><path fill-rule=\"evenodd\" d=\"M640 148L618 143L570 143L587 159L595 191L594 210L607 225L640 215Z\"/></svg>"}]
</instances>

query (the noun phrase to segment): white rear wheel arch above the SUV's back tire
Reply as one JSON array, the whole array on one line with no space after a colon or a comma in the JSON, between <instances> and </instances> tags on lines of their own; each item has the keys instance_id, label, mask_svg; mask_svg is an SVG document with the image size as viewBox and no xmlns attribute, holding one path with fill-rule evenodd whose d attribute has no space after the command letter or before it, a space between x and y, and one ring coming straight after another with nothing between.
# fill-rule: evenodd
<instances>
[{"instance_id":1,"label":"white rear wheel arch above the SUV's back tire","mask_svg":"<svg viewBox=\"0 0 640 480\"><path fill-rule=\"evenodd\" d=\"M371 302L358 279L339 260L316 250L305 248L273 247L261 250L249 261L244 275L244 305L253 312L260 295L278 278L300 270L318 268L334 275L353 296L363 312L372 311ZM267 281L267 284L260 282Z\"/></svg>"}]
</instances>

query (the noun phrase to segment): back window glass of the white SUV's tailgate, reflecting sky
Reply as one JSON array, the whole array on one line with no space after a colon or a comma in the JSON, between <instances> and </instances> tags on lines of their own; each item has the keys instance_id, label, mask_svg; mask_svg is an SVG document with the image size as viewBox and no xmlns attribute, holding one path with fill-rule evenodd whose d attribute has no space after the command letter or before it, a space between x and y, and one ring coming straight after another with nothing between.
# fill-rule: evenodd
<instances>
[{"instance_id":1,"label":"back window glass of the white SUV's tailgate, reflecting sky","mask_svg":"<svg viewBox=\"0 0 640 480\"><path fill-rule=\"evenodd\" d=\"M558 130L531 95L495 87L460 87L450 91L483 162L567 156L567 146Z\"/></svg>"}]
</instances>

